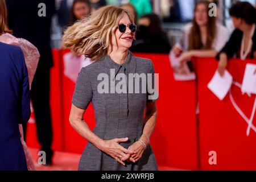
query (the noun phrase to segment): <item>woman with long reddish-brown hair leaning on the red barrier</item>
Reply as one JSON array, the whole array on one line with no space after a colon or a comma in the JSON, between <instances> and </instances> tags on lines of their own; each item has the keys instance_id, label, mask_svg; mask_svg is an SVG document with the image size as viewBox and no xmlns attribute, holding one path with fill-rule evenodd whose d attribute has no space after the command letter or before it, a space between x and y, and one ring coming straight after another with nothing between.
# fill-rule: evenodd
<instances>
[{"instance_id":1,"label":"woman with long reddish-brown hair leaning on the red barrier","mask_svg":"<svg viewBox=\"0 0 256 182\"><path fill-rule=\"evenodd\" d=\"M196 3L193 22L185 26L180 42L172 49L181 63L191 57L215 57L228 40L228 29L208 15L209 3Z\"/></svg>"}]
</instances>

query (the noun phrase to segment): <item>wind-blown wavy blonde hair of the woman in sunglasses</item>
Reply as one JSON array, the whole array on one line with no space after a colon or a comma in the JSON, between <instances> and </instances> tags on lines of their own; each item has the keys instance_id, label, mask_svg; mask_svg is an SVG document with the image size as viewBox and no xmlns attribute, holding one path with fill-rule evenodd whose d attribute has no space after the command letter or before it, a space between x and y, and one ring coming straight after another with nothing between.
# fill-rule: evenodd
<instances>
[{"instance_id":1,"label":"wind-blown wavy blonde hair of the woman in sunglasses","mask_svg":"<svg viewBox=\"0 0 256 182\"><path fill-rule=\"evenodd\" d=\"M108 53L119 20L125 13L134 23L133 16L120 7L109 5L98 9L88 18L76 22L65 30L63 46L93 61L100 60Z\"/></svg>"}]
</instances>

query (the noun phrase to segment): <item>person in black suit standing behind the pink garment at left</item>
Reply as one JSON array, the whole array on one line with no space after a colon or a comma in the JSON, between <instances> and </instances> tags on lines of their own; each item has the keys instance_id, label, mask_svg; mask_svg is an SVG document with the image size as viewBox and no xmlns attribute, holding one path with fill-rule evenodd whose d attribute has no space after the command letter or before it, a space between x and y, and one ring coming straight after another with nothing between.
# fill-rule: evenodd
<instances>
[{"instance_id":1,"label":"person in black suit standing behind the pink garment at left","mask_svg":"<svg viewBox=\"0 0 256 182\"><path fill-rule=\"evenodd\" d=\"M42 4L43 3L43 4ZM50 46L51 19L55 13L53 0L8 0L6 1L9 27L17 38L34 44L40 53L38 68L31 86L38 139L46 152L46 163L51 164L53 151L51 110L49 106L49 78L53 65ZM44 11L45 15L44 16ZM23 126L24 134L26 126ZM26 135L25 135L26 136Z\"/></svg>"}]
</instances>

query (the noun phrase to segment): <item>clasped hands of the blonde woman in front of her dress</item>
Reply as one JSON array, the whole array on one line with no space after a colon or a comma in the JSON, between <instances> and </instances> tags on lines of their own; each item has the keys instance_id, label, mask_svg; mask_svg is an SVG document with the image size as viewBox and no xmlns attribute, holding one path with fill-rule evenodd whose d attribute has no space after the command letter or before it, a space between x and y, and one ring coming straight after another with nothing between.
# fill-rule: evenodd
<instances>
[{"instance_id":1,"label":"clasped hands of the blonde woman in front of her dress","mask_svg":"<svg viewBox=\"0 0 256 182\"><path fill-rule=\"evenodd\" d=\"M119 144L121 142L127 142L127 140L129 140L129 138L115 138L112 140L105 140L101 150L112 156L112 158L117 160L117 162L121 163L123 166L125 166L125 161L136 163L142 158L145 148L139 141L131 144L128 149L122 147ZM144 142L146 145L149 144L149 141L146 142L147 140L145 138L143 139L143 136L139 140L142 140L142 142Z\"/></svg>"}]
</instances>

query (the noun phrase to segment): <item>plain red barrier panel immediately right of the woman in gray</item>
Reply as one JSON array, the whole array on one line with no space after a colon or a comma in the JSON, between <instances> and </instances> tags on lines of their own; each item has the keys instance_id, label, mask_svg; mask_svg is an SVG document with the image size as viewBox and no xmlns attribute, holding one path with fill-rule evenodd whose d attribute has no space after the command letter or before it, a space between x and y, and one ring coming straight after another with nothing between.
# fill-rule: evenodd
<instances>
[{"instance_id":1,"label":"plain red barrier panel immediately right of the woman in gray","mask_svg":"<svg viewBox=\"0 0 256 182\"><path fill-rule=\"evenodd\" d=\"M151 59L159 73L159 114L151 139L158 165L197 169L195 81L175 81L168 55L136 56Z\"/></svg>"}]
</instances>

